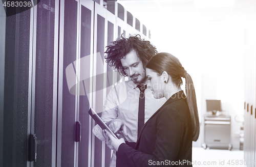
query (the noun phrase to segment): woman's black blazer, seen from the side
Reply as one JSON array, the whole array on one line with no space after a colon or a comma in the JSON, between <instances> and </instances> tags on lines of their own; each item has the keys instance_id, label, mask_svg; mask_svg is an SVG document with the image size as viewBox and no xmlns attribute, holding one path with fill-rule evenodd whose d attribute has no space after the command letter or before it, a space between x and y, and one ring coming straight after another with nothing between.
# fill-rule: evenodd
<instances>
[{"instance_id":1,"label":"woman's black blazer, seen from the side","mask_svg":"<svg viewBox=\"0 0 256 167\"><path fill-rule=\"evenodd\" d=\"M126 144L119 146L116 166L192 166L191 157L191 117L184 92L180 91L148 119L135 149Z\"/></svg>"}]
</instances>

